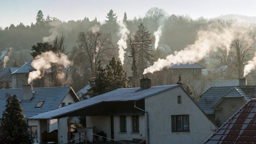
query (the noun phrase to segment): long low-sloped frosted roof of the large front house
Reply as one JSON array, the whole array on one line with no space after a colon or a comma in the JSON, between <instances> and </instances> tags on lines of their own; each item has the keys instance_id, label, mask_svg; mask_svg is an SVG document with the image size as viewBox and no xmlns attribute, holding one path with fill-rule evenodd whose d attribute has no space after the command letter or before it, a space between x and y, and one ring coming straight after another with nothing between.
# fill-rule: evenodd
<instances>
[{"instance_id":1,"label":"long low-sloped frosted roof of the large front house","mask_svg":"<svg viewBox=\"0 0 256 144\"><path fill-rule=\"evenodd\" d=\"M72 103L70 105L66 105L65 107L61 107L52 111L48 111L45 113L41 113L39 115L33 116L30 119L51 119L66 113L79 110L82 108L89 107L94 104L98 104L101 102L109 102L109 101L134 101L141 100L148 96L158 94L163 91L170 90L174 87L180 85L164 85L164 86L151 86L146 90L140 90L140 87L135 88L119 88L114 91L110 91L98 96L94 96L90 99L86 99L80 102Z\"/></svg>"}]
</instances>

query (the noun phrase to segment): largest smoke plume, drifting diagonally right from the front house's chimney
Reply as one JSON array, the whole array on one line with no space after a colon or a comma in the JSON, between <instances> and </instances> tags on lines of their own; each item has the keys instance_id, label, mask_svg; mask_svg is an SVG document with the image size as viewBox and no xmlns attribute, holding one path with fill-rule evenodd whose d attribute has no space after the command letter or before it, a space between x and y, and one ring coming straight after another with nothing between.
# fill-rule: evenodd
<instances>
[{"instance_id":1,"label":"largest smoke plume, drifting diagonally right from the front house's chimney","mask_svg":"<svg viewBox=\"0 0 256 144\"><path fill-rule=\"evenodd\" d=\"M172 64L179 65L199 61L218 49L229 50L229 44L234 39L234 32L243 31L243 28L238 24L229 27L210 24L205 29L198 31L197 40L194 44L188 45L181 51L175 51L174 54L168 55L166 59L158 59L152 66L144 69L143 74L146 74L147 71L153 73Z\"/></svg>"}]
</instances>

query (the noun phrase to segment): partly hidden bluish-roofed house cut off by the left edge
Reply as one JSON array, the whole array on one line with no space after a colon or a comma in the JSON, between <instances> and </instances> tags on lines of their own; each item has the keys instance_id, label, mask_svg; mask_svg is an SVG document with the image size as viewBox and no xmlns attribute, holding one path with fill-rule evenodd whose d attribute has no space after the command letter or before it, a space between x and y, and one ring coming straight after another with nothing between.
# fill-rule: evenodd
<instances>
[{"instance_id":1,"label":"partly hidden bluish-roofed house cut off by the left edge","mask_svg":"<svg viewBox=\"0 0 256 144\"><path fill-rule=\"evenodd\" d=\"M0 70L0 81L3 83L2 87L4 88L7 84L9 87L11 87L12 79L11 79L11 73L13 73L18 68L15 67L8 67L8 68L2 68Z\"/></svg>"}]
</instances>

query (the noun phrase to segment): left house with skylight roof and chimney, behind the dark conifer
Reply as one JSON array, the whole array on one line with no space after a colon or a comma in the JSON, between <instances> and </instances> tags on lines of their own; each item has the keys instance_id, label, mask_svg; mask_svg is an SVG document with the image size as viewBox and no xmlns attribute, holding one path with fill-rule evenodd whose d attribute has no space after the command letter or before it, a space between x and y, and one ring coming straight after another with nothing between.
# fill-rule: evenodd
<instances>
[{"instance_id":1,"label":"left house with skylight roof and chimney, behind the dark conifer","mask_svg":"<svg viewBox=\"0 0 256 144\"><path fill-rule=\"evenodd\" d=\"M36 119L29 120L29 118L79 101L70 86L33 88L32 85L23 85L22 88L0 89L0 115L6 109L7 93L10 95L16 94L17 98L21 101L20 105L24 109L23 114L28 119L28 125L39 142L41 141L41 134L44 130L52 132L57 129L58 120L39 121ZM45 123L42 123L42 121Z\"/></svg>"}]
</instances>

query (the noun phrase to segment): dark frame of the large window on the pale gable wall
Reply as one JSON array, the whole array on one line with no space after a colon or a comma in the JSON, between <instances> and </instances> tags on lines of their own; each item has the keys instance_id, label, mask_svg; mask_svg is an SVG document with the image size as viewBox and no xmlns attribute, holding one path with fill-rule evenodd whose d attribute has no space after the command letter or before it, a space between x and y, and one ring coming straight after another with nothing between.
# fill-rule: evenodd
<instances>
[{"instance_id":1,"label":"dark frame of the large window on the pale gable wall","mask_svg":"<svg viewBox=\"0 0 256 144\"><path fill-rule=\"evenodd\" d=\"M179 130L178 128L178 122L177 122L177 119L178 117L182 117L182 121L181 121L181 124L182 124L182 130ZM188 129L184 129L184 117L187 116L188 119L187 119L187 127ZM189 115L171 115L171 129L172 129L172 132L190 132L190 129L189 129Z\"/></svg>"}]
</instances>

